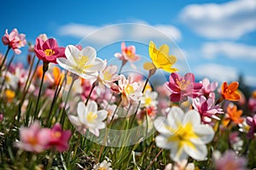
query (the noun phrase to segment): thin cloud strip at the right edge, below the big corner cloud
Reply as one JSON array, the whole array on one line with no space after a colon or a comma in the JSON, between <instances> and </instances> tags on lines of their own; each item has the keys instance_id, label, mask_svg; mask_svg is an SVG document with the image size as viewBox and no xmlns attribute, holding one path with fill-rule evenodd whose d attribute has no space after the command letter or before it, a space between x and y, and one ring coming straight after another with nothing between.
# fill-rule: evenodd
<instances>
[{"instance_id":1,"label":"thin cloud strip at the right edge, below the big corner cloud","mask_svg":"<svg viewBox=\"0 0 256 170\"><path fill-rule=\"evenodd\" d=\"M236 42L205 42L201 48L206 58L215 58L218 55L230 59L256 60L256 46L249 46Z\"/></svg>"}]
</instances>

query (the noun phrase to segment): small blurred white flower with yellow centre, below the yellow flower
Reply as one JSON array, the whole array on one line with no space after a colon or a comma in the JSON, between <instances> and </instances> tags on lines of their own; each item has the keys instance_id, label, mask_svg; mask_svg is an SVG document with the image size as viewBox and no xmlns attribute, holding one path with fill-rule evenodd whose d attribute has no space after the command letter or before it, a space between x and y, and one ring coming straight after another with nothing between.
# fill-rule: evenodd
<instances>
[{"instance_id":1,"label":"small blurred white flower with yellow centre, below the yellow flower","mask_svg":"<svg viewBox=\"0 0 256 170\"><path fill-rule=\"evenodd\" d=\"M158 104L157 96L158 95L156 92L150 92L149 90L147 90L142 97L142 106L143 107L156 106Z\"/></svg>"}]
</instances>

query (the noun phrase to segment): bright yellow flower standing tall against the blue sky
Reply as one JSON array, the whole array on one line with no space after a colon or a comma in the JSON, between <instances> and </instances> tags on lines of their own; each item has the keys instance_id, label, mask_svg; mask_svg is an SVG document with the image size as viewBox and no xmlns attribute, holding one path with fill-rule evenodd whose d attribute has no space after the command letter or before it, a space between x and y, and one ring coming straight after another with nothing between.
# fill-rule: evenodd
<instances>
[{"instance_id":1,"label":"bright yellow flower standing tall against the blue sky","mask_svg":"<svg viewBox=\"0 0 256 170\"><path fill-rule=\"evenodd\" d=\"M154 70L162 69L167 72L176 72L177 68L173 68L177 61L177 58L174 55L169 55L169 47L166 44L156 48L154 42L149 42L149 56L152 60L152 63L146 62L143 67L145 70Z\"/></svg>"}]
</instances>

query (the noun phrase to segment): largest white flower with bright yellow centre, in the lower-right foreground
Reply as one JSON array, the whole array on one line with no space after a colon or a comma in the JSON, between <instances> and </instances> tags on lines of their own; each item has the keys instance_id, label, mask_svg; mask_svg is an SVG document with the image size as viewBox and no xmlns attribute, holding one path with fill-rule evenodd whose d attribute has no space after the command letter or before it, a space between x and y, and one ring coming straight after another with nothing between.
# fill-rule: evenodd
<instances>
[{"instance_id":1,"label":"largest white flower with bright yellow centre, in the lower-right foreground","mask_svg":"<svg viewBox=\"0 0 256 170\"><path fill-rule=\"evenodd\" d=\"M160 132L155 138L156 145L171 150L173 161L182 161L188 156L198 161L204 160L207 156L206 144L214 136L212 127L201 124L197 111L184 114L178 107L172 107L167 117L158 117L154 127Z\"/></svg>"}]
</instances>

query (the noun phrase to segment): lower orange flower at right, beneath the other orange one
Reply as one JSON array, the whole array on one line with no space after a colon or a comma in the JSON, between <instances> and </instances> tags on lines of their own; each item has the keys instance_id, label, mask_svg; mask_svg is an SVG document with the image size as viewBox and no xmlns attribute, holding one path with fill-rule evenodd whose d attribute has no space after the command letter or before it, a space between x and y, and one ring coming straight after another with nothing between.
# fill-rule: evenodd
<instances>
[{"instance_id":1,"label":"lower orange flower at right, beneath the other orange one","mask_svg":"<svg viewBox=\"0 0 256 170\"><path fill-rule=\"evenodd\" d=\"M227 108L227 117L224 119L224 126L227 126L230 121L235 122L236 124L243 122L244 119L241 117L241 114L242 111L237 111L236 105L229 105Z\"/></svg>"}]
</instances>

